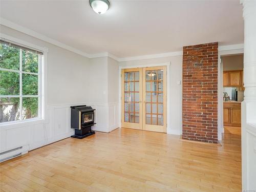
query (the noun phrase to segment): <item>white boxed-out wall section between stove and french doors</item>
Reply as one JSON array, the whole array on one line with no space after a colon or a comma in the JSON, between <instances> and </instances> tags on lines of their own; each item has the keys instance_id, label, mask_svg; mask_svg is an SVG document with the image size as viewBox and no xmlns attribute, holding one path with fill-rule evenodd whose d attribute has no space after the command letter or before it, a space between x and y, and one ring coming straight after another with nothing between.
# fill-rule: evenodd
<instances>
[{"instance_id":1,"label":"white boxed-out wall section between stove and french doors","mask_svg":"<svg viewBox=\"0 0 256 192\"><path fill-rule=\"evenodd\" d=\"M95 131L111 132L118 128L118 62L109 57L90 59L88 102L96 109Z\"/></svg>"}]
</instances>

